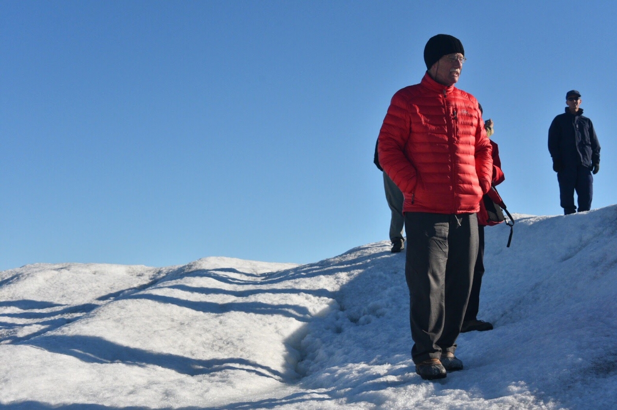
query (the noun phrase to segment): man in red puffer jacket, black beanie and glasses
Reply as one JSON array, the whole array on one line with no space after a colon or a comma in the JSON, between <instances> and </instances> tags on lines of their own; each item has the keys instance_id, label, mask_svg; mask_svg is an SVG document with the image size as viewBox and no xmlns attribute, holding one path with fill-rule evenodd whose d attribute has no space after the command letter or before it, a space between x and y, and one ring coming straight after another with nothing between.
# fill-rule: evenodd
<instances>
[{"instance_id":1,"label":"man in red puffer jacket, black beanie and glasses","mask_svg":"<svg viewBox=\"0 0 617 410\"><path fill-rule=\"evenodd\" d=\"M412 358L423 379L463 369L456 340L478 255L479 202L491 188L491 142L473 95L454 87L463 44L437 34L426 74L392 97L379 132L379 163L403 192Z\"/></svg>"}]
</instances>

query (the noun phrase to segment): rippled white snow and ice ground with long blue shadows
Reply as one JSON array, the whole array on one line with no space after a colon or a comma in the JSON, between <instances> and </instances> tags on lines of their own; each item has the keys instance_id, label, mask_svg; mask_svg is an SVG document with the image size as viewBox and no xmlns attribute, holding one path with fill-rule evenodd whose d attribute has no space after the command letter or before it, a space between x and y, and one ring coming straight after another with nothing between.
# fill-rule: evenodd
<instances>
[{"instance_id":1,"label":"rippled white snow and ice ground with long blue shadows","mask_svg":"<svg viewBox=\"0 0 617 410\"><path fill-rule=\"evenodd\" d=\"M0 272L1 409L615 409L617 206L486 229L465 370L414 372L404 254Z\"/></svg>"}]
</instances>

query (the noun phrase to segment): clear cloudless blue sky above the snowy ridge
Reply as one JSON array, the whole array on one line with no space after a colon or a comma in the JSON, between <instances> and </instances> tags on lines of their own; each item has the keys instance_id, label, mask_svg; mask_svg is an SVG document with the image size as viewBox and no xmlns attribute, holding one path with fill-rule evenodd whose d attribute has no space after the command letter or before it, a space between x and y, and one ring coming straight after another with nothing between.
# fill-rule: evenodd
<instances>
[{"instance_id":1,"label":"clear cloudless blue sky above the snowy ridge","mask_svg":"<svg viewBox=\"0 0 617 410\"><path fill-rule=\"evenodd\" d=\"M617 6L503 4L0 2L0 270L388 239L375 140L438 33L495 121L508 210L561 214L547 131L569 89L602 145L592 207L616 203Z\"/></svg>"}]
</instances>

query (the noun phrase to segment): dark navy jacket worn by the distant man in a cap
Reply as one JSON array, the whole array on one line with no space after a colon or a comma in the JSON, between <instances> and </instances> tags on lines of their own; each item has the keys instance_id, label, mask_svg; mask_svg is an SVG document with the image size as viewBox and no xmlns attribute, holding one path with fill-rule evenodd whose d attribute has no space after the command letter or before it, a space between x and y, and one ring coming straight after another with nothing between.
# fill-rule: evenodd
<instances>
[{"instance_id":1,"label":"dark navy jacket worn by the distant man in a cap","mask_svg":"<svg viewBox=\"0 0 617 410\"><path fill-rule=\"evenodd\" d=\"M553 164L558 167L555 171L565 167L600 164L600 143L594 124L582 115L582 108L572 114L566 107L565 113L553 119L549 128L549 152Z\"/></svg>"}]
</instances>

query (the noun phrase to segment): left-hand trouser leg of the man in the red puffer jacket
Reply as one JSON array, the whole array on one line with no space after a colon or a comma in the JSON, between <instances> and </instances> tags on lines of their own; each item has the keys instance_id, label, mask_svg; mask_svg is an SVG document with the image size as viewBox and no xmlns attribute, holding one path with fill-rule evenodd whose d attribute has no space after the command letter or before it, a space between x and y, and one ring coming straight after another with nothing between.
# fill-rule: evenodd
<instances>
[{"instance_id":1,"label":"left-hand trouser leg of the man in the red puffer jacket","mask_svg":"<svg viewBox=\"0 0 617 410\"><path fill-rule=\"evenodd\" d=\"M450 215L406 212L407 260L405 279L409 287L409 320L414 363L439 358L445 321L445 267L448 259Z\"/></svg>"}]
</instances>

